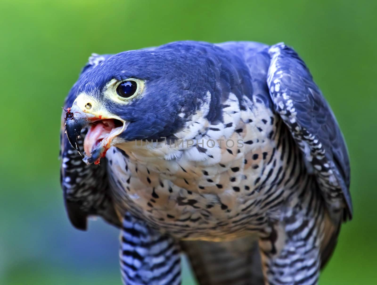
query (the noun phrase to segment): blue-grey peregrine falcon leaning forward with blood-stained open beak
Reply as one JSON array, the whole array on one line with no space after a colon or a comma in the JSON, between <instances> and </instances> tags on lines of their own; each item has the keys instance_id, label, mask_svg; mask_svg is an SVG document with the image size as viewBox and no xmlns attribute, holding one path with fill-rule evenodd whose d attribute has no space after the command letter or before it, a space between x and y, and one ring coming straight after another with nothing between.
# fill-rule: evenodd
<instances>
[{"instance_id":1,"label":"blue-grey peregrine falcon leaning forward with blood-stained open beak","mask_svg":"<svg viewBox=\"0 0 377 285\"><path fill-rule=\"evenodd\" d=\"M66 98L69 219L119 227L124 284L312 285L352 217L348 153L284 43L93 54Z\"/></svg>"}]
</instances>

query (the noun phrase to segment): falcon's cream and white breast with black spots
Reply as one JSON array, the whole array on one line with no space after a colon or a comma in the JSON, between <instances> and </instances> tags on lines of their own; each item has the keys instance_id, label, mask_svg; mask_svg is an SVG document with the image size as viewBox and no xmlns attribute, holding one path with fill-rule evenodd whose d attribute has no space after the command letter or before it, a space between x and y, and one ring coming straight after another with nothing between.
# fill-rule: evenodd
<instances>
[{"instance_id":1,"label":"falcon's cream and white breast with black spots","mask_svg":"<svg viewBox=\"0 0 377 285\"><path fill-rule=\"evenodd\" d=\"M179 134L180 143L129 142L120 146L128 157L110 149L106 157L118 209L142 215L178 237L210 240L224 232L239 235L245 227L233 221L263 215L249 205L264 195L255 190L267 176L263 170L276 148L271 138L277 118L247 97L242 103L247 108L241 111L230 96L223 123L210 125L200 117L201 128L193 136L188 127ZM189 137L195 139L190 142Z\"/></svg>"}]
</instances>

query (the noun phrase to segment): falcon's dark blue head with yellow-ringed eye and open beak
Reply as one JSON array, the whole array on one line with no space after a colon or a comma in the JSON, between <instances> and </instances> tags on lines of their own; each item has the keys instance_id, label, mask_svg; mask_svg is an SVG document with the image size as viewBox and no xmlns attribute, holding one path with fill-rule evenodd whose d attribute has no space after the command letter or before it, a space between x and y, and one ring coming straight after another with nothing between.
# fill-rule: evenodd
<instances>
[{"instance_id":1,"label":"falcon's dark blue head with yellow-ringed eye and open beak","mask_svg":"<svg viewBox=\"0 0 377 285\"><path fill-rule=\"evenodd\" d=\"M221 120L216 110L234 78L222 76L224 55L219 50L176 43L110 56L77 82L77 97L66 114L70 143L79 150L77 138L89 125L84 161L92 163L123 142L173 138L207 94L211 100L206 116Z\"/></svg>"}]
</instances>

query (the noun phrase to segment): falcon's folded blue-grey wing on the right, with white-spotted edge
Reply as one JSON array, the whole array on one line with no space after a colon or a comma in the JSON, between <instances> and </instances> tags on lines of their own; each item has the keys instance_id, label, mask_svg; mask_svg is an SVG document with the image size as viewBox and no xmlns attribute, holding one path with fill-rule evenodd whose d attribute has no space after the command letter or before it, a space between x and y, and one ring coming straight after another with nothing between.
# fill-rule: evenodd
<instances>
[{"instance_id":1,"label":"falcon's folded blue-grey wing on the right, with white-spotted edge","mask_svg":"<svg viewBox=\"0 0 377 285\"><path fill-rule=\"evenodd\" d=\"M267 85L273 108L317 177L330 215L352 218L349 158L339 125L302 59L280 43L270 47Z\"/></svg>"}]
</instances>

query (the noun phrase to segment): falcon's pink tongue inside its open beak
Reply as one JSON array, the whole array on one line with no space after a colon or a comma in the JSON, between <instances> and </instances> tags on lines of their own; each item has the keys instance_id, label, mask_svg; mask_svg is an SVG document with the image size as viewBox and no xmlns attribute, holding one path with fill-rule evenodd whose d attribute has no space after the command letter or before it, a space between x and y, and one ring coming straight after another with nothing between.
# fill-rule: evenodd
<instances>
[{"instance_id":1,"label":"falcon's pink tongue inside its open beak","mask_svg":"<svg viewBox=\"0 0 377 285\"><path fill-rule=\"evenodd\" d=\"M84 139L85 154L90 156L93 148L96 147L102 139L106 138L114 127L115 124L112 119L93 123Z\"/></svg>"}]
</instances>

